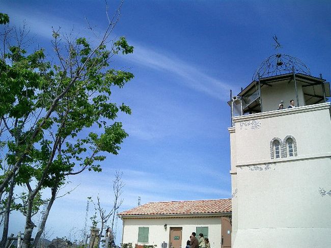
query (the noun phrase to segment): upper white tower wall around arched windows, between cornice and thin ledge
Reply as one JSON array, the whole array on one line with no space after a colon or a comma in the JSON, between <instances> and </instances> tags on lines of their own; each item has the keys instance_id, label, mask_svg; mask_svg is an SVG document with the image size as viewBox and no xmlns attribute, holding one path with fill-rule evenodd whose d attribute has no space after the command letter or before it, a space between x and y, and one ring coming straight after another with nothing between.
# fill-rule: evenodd
<instances>
[{"instance_id":1,"label":"upper white tower wall around arched windows, between cornice and thin ledge","mask_svg":"<svg viewBox=\"0 0 331 248\"><path fill-rule=\"evenodd\" d=\"M236 166L271 162L268 145L273 137L294 136L300 156L330 152L329 109L316 111L322 104L328 103L234 118Z\"/></svg>"}]
</instances>

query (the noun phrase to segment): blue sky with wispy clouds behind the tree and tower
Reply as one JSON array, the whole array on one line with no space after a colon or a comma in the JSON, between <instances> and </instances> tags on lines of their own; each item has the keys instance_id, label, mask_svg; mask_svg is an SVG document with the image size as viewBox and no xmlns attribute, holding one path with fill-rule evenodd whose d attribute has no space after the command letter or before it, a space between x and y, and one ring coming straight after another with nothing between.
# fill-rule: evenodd
<instances>
[{"instance_id":1,"label":"blue sky with wispy clouds behind the tree and tower","mask_svg":"<svg viewBox=\"0 0 331 248\"><path fill-rule=\"evenodd\" d=\"M108 4L115 9L118 2ZM50 56L51 26L93 39L85 17L96 31L107 23L104 1L0 0L0 6L11 24L25 20L34 46ZM142 204L230 198L226 101L275 53L274 34L280 52L302 60L312 75L331 78L329 1L127 0L121 12L113 38L124 35L135 49L114 57L113 65L135 77L115 90L114 101L132 108L119 118L130 136L119 155L103 162L102 173L70 178L67 190L79 186L55 202L46 225L52 237L84 227L87 197L99 194L105 207L112 205L116 170L125 183L121 211L135 207L139 196ZM13 214L10 231L23 231L23 221Z\"/></svg>"}]
</instances>

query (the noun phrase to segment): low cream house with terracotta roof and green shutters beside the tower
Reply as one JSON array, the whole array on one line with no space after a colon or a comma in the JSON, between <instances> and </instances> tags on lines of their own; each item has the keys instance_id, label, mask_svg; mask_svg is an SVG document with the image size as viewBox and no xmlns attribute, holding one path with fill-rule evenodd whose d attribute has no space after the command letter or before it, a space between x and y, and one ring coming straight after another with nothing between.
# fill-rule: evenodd
<instances>
[{"instance_id":1,"label":"low cream house with terracotta roof and green shutters beside the tower","mask_svg":"<svg viewBox=\"0 0 331 248\"><path fill-rule=\"evenodd\" d=\"M212 248L231 245L231 199L151 202L119 216L123 221L122 243L184 248L191 233L196 232L198 238L203 233Z\"/></svg>"}]
</instances>

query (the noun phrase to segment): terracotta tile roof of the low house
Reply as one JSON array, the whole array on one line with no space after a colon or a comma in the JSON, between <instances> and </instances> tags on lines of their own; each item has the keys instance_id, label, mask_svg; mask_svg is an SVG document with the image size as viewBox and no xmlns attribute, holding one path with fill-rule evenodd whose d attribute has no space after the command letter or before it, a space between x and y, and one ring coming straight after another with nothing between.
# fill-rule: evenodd
<instances>
[{"instance_id":1,"label":"terracotta tile roof of the low house","mask_svg":"<svg viewBox=\"0 0 331 248\"><path fill-rule=\"evenodd\" d=\"M179 202L151 202L119 215L148 215L148 214L195 214L195 213L228 213L231 212L231 199L199 200Z\"/></svg>"}]
</instances>

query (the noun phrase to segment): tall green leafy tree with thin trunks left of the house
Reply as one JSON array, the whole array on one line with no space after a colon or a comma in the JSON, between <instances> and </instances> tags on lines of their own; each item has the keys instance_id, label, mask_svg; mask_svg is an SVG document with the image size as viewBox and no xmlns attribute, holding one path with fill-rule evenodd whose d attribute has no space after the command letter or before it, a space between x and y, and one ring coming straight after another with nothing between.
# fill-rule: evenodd
<instances>
[{"instance_id":1,"label":"tall green leafy tree with thin trunks left of the house","mask_svg":"<svg viewBox=\"0 0 331 248\"><path fill-rule=\"evenodd\" d=\"M119 11L119 9L118 9ZM47 203L33 246L36 246L59 188L69 176L86 170L100 172L107 153L117 155L128 134L116 118L131 114L124 103L112 101L112 89L133 78L112 68L115 54L133 52L124 37L109 42L118 12L96 46L84 37L70 40L53 30L56 59L39 48L30 52L14 37L9 16L0 13L0 194L3 213L2 247L8 236L9 213L25 216L24 241L29 246L35 224L32 215ZM13 197L15 186L26 188L23 203ZM50 199L42 191L50 190Z\"/></svg>"}]
</instances>

